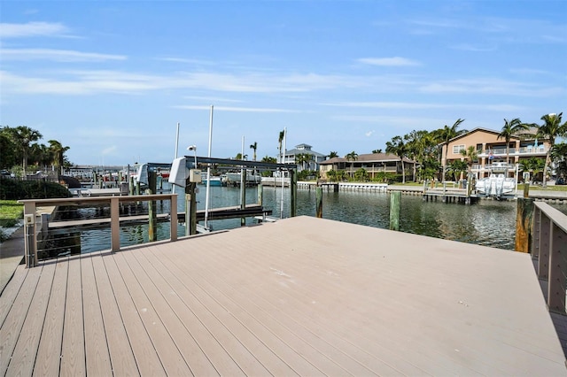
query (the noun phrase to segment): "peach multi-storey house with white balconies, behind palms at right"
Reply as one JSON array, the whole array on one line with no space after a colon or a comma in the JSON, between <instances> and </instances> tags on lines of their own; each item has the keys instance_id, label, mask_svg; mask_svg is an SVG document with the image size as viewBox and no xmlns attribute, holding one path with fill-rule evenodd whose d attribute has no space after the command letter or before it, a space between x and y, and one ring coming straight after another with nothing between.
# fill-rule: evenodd
<instances>
[{"instance_id":1,"label":"peach multi-storey house with white balconies, behind palms at right","mask_svg":"<svg viewBox=\"0 0 567 377\"><path fill-rule=\"evenodd\" d=\"M531 130L535 135L536 130ZM463 159L461 150L467 150L472 145L478 153L478 161L471 166L471 173L477 179L485 178L493 171L493 164L504 167L508 177L517 176L517 165L528 158L546 158L549 150L548 140L538 140L535 136L513 136L509 142L509 160L506 154L506 140L498 138L500 131L486 128L475 128L459 135L448 143L442 144L441 165L450 165L455 159ZM447 150L447 160L445 152Z\"/></svg>"}]
</instances>

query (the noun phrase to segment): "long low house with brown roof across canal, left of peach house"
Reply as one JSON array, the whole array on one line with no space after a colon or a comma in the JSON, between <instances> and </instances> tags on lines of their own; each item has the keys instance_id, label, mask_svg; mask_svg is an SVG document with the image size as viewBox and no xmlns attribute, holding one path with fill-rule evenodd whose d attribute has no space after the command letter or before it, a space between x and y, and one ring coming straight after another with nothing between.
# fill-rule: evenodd
<instances>
[{"instance_id":1,"label":"long low house with brown roof across canal, left of peach house","mask_svg":"<svg viewBox=\"0 0 567 377\"><path fill-rule=\"evenodd\" d=\"M401 164L404 164L406 180L410 180L414 173L416 161L412 161L408 158L403 158L402 160L398 156L390 153L361 154L355 160L338 157L330 158L319 164L319 173L323 180L328 179L327 172L330 170L336 172L344 170L349 177L353 177L354 172L363 168L369 173L370 180L373 180L377 177L378 173L394 173L401 175Z\"/></svg>"}]
</instances>

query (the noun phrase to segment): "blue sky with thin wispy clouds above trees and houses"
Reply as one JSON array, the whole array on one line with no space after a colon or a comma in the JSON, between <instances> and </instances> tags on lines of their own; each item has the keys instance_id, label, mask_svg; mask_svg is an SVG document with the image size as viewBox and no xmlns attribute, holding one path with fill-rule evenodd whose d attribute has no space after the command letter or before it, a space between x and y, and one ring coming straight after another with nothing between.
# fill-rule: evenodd
<instances>
[{"instance_id":1,"label":"blue sky with thin wispy clouds above trees and houses","mask_svg":"<svg viewBox=\"0 0 567 377\"><path fill-rule=\"evenodd\" d=\"M195 144L276 157L287 128L340 156L395 135L567 111L567 2L0 3L0 125L74 164L169 162ZM567 115L563 117L566 119Z\"/></svg>"}]
</instances>

